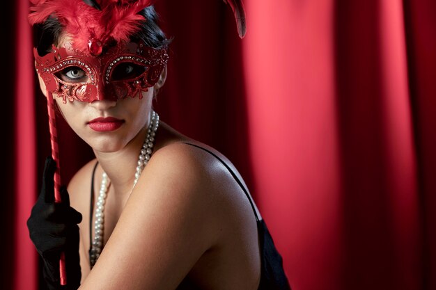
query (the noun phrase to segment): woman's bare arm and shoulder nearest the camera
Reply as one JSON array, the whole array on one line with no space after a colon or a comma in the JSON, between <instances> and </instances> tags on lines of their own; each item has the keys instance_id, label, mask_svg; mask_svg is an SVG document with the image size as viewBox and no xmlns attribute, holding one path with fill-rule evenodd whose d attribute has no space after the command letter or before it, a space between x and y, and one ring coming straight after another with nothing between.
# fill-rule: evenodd
<instances>
[{"instance_id":1,"label":"woman's bare arm and shoulder nearest the camera","mask_svg":"<svg viewBox=\"0 0 436 290\"><path fill-rule=\"evenodd\" d=\"M80 289L176 289L220 234L216 168L187 145L153 155Z\"/></svg>"}]
</instances>

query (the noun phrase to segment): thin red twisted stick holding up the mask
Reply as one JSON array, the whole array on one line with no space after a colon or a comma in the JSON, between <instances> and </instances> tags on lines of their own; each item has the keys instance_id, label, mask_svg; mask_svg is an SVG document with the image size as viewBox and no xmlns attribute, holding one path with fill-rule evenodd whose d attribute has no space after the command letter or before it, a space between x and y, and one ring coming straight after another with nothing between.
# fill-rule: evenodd
<instances>
[{"instance_id":1,"label":"thin red twisted stick holding up the mask","mask_svg":"<svg viewBox=\"0 0 436 290\"><path fill-rule=\"evenodd\" d=\"M56 112L54 111L54 99L51 92L47 92L47 110L49 113L50 143L52 143L52 158L56 161L57 168L54 172L54 202L61 202L61 174L59 165L58 132L56 130ZM59 271L61 275L61 285L67 284L67 273L65 271L65 253L61 253L59 260Z\"/></svg>"}]
</instances>

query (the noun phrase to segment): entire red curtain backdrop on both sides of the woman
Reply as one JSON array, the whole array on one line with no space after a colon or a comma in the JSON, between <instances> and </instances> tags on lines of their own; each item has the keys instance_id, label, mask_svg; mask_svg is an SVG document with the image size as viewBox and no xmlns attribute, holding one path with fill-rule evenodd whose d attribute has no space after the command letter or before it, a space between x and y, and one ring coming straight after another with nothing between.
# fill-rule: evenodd
<instances>
[{"instance_id":1,"label":"entire red curtain backdrop on both sides of the woman","mask_svg":"<svg viewBox=\"0 0 436 290\"><path fill-rule=\"evenodd\" d=\"M157 1L174 38L162 120L235 163L293 289L436 289L436 2L244 3L240 40L222 1ZM28 8L8 8L15 157L3 280L15 290L38 289L25 222L49 155ZM66 183L92 152L60 119L59 132Z\"/></svg>"}]
</instances>

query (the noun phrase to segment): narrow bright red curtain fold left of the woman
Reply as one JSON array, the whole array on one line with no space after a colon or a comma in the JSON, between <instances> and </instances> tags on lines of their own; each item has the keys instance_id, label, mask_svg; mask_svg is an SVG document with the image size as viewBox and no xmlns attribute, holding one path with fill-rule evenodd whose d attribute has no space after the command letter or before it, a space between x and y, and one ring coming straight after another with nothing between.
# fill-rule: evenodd
<instances>
[{"instance_id":1,"label":"narrow bright red curtain fold left of the woman","mask_svg":"<svg viewBox=\"0 0 436 290\"><path fill-rule=\"evenodd\" d=\"M33 54L31 27L27 22L29 1L17 1L15 17L15 82L13 111L15 112L15 184L13 266L14 289L33 290L38 287L37 254L26 227L31 208L36 201L36 127L35 94L33 89ZM3 28L6 29L6 28Z\"/></svg>"}]
</instances>

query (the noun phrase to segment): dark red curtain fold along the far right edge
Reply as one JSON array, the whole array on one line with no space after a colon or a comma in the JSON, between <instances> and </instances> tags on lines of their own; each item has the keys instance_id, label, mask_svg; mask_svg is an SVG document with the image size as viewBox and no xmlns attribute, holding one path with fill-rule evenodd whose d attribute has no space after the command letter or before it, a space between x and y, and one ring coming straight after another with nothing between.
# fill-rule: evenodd
<instances>
[{"instance_id":1,"label":"dark red curtain fold along the far right edge","mask_svg":"<svg viewBox=\"0 0 436 290\"><path fill-rule=\"evenodd\" d=\"M436 289L436 3L403 3L423 233L421 276L424 289Z\"/></svg>"}]
</instances>

